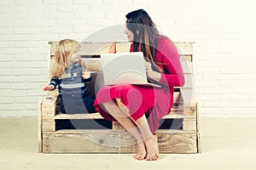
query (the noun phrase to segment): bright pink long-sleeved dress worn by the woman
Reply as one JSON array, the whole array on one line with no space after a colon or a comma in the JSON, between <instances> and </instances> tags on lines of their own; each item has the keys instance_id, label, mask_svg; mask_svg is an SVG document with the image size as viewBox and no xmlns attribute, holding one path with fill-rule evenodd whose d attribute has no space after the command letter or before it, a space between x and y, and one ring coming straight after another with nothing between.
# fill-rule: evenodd
<instances>
[{"instance_id":1,"label":"bright pink long-sleeved dress worn by the woman","mask_svg":"<svg viewBox=\"0 0 256 170\"><path fill-rule=\"evenodd\" d=\"M133 44L131 44L132 51ZM152 133L160 126L160 119L171 111L173 103L173 87L184 85L183 69L180 63L177 48L173 42L160 36L157 42L157 62L163 69L160 77L162 88L143 87L130 84L120 84L102 87L96 94L94 106L96 111L109 121L116 121L113 116L104 111L102 103L119 98L129 109L131 118L137 121L146 114L148 125Z\"/></svg>"}]
</instances>

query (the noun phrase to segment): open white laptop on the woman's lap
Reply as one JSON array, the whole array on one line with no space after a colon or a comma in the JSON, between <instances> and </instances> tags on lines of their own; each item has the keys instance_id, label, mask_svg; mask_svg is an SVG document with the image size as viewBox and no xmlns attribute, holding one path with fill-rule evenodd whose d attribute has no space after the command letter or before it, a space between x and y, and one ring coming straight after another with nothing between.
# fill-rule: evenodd
<instances>
[{"instance_id":1,"label":"open white laptop on the woman's lap","mask_svg":"<svg viewBox=\"0 0 256 170\"><path fill-rule=\"evenodd\" d=\"M148 82L143 52L101 54L105 85L133 84L161 88Z\"/></svg>"}]
</instances>

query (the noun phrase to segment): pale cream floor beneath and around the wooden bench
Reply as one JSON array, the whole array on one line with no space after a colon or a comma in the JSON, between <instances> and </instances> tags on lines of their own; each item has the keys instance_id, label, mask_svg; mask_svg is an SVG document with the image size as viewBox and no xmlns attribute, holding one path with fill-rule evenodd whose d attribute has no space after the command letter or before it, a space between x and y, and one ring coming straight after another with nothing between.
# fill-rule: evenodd
<instances>
[{"instance_id":1,"label":"pale cream floor beneath and around the wooden bench","mask_svg":"<svg viewBox=\"0 0 256 170\"><path fill-rule=\"evenodd\" d=\"M0 118L0 167L8 170L256 169L256 117L202 117L201 154L161 154L136 161L131 154L40 154L36 118Z\"/></svg>"}]
</instances>

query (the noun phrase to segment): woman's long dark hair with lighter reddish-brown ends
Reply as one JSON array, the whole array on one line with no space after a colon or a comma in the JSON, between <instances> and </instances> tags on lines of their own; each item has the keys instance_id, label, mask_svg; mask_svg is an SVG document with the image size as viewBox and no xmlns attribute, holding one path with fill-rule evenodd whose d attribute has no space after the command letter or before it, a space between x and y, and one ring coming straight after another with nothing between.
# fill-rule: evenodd
<instances>
[{"instance_id":1,"label":"woman's long dark hair with lighter reddish-brown ends","mask_svg":"<svg viewBox=\"0 0 256 170\"><path fill-rule=\"evenodd\" d=\"M153 65L153 69L162 71L155 60L160 35L153 20L143 9L132 11L125 17L127 19L126 26L134 35L133 51L143 52L145 59Z\"/></svg>"}]
</instances>

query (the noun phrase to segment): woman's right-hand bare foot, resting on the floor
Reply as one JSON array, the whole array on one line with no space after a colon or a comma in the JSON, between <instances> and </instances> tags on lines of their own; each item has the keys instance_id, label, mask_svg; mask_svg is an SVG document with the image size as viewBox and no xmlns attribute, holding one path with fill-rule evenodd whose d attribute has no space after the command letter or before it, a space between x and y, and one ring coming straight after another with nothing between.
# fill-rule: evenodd
<instances>
[{"instance_id":1,"label":"woman's right-hand bare foot, resting on the floor","mask_svg":"<svg viewBox=\"0 0 256 170\"><path fill-rule=\"evenodd\" d=\"M159 158L159 148L157 143L157 136L152 135L145 141L147 156L146 161L156 161Z\"/></svg>"}]
</instances>

